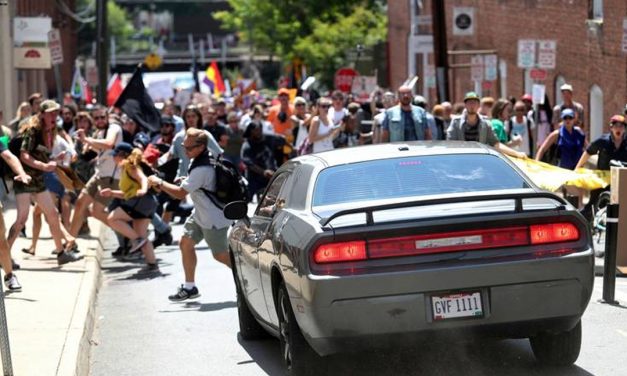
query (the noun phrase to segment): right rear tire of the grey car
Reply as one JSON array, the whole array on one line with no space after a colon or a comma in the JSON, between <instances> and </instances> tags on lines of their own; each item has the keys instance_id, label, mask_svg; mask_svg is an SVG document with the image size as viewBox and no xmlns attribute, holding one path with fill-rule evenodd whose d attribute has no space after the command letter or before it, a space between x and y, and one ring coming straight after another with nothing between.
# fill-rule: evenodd
<instances>
[{"instance_id":1,"label":"right rear tire of the grey car","mask_svg":"<svg viewBox=\"0 0 627 376\"><path fill-rule=\"evenodd\" d=\"M571 330L557 334L543 332L530 337L529 342L540 363L569 366L575 363L581 350L581 320Z\"/></svg>"}]
</instances>

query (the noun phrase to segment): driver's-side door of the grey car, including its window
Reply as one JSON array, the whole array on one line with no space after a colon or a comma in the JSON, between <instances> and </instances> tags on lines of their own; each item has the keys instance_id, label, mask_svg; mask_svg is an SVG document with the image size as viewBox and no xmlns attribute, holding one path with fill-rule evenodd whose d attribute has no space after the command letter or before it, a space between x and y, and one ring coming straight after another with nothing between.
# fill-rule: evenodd
<instances>
[{"instance_id":1,"label":"driver's-side door of the grey car, including its window","mask_svg":"<svg viewBox=\"0 0 627 376\"><path fill-rule=\"evenodd\" d=\"M260 256L272 253L272 237L269 234L270 224L274 217L275 204L285 183L288 173L282 173L274 177L268 189L250 219L250 231L244 241L244 249L240 264L240 273L244 279L244 291L252 309L265 321L268 321L268 309L261 285ZM264 256L265 258L265 256Z\"/></svg>"}]
</instances>

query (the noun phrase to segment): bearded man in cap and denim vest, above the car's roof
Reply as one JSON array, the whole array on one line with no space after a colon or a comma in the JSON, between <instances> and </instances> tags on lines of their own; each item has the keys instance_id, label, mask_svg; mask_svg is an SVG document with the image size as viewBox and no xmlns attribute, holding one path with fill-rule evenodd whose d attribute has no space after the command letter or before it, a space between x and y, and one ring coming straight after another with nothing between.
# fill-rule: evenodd
<instances>
[{"instance_id":1,"label":"bearded man in cap and denim vest, above the car's roof","mask_svg":"<svg viewBox=\"0 0 627 376\"><path fill-rule=\"evenodd\" d=\"M412 104L409 86L398 88L399 104L385 111L381 142L431 140L427 112Z\"/></svg>"}]
</instances>

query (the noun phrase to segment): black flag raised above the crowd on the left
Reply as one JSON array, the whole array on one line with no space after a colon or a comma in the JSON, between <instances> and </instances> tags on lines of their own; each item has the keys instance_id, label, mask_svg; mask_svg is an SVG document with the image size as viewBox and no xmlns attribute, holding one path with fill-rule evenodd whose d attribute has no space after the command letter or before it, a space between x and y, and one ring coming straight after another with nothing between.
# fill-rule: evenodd
<instances>
[{"instance_id":1,"label":"black flag raised above the crowd on the left","mask_svg":"<svg viewBox=\"0 0 627 376\"><path fill-rule=\"evenodd\" d=\"M150 132L159 132L161 114L146 91L140 67L135 69L133 77L118 97L114 107L120 108L139 126Z\"/></svg>"}]
</instances>

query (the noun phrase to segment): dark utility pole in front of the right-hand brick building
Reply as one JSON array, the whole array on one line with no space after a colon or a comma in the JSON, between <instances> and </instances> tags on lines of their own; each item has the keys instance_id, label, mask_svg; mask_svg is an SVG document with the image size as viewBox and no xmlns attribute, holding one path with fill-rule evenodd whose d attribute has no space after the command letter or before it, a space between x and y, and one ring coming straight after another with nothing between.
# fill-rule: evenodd
<instances>
[{"instance_id":1,"label":"dark utility pole in front of the right-hand brick building","mask_svg":"<svg viewBox=\"0 0 627 376\"><path fill-rule=\"evenodd\" d=\"M433 49L435 52L435 79L438 103L449 100L448 47L446 44L446 12L444 0L431 0L433 13Z\"/></svg>"}]
</instances>

